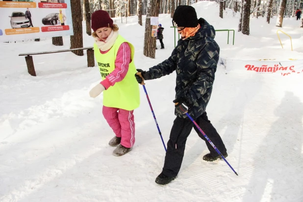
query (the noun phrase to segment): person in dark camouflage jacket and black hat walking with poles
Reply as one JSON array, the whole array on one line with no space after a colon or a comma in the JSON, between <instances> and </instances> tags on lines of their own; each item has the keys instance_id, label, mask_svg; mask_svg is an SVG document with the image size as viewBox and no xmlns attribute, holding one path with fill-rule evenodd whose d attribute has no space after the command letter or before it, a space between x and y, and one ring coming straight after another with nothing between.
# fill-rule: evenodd
<instances>
[{"instance_id":1,"label":"person in dark camouflage jacket and black hat walking with poles","mask_svg":"<svg viewBox=\"0 0 303 202\"><path fill-rule=\"evenodd\" d=\"M181 5L175 10L173 24L177 26L181 39L172 55L162 63L151 67L149 71L137 69L136 79L143 84L144 80L157 79L176 70L176 99L174 121L162 173L156 178L156 183L167 184L177 177L180 170L185 143L194 127L192 121L182 111L182 106L188 107L188 113L213 142L224 157L227 157L226 147L210 123L205 112L212 92L215 72L219 60L220 48L215 42L215 30L212 25L200 18L198 20L192 6ZM213 161L221 158L200 131L194 127L198 135L205 141L209 154L203 160Z\"/></svg>"}]
</instances>

